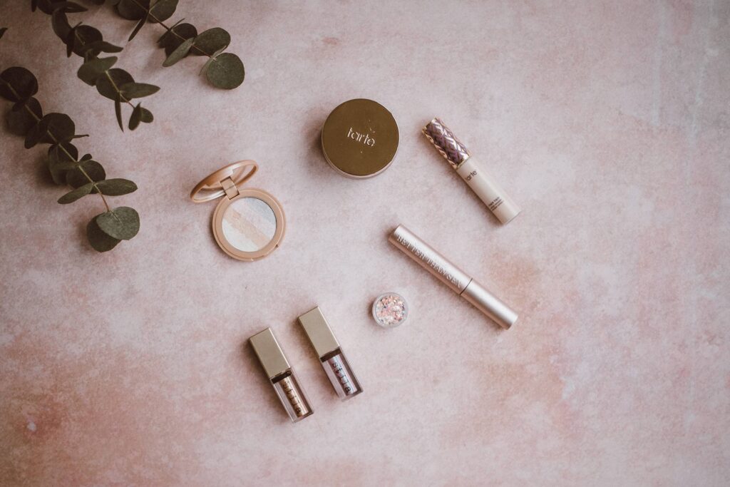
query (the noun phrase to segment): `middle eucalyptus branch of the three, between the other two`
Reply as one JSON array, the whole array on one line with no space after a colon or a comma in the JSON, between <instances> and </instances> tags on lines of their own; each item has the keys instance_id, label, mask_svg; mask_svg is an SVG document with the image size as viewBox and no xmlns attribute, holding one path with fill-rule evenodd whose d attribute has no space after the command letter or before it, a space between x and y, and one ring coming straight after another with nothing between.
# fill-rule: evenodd
<instances>
[{"instance_id":1,"label":"middle eucalyptus branch of the three, between the other two","mask_svg":"<svg viewBox=\"0 0 730 487\"><path fill-rule=\"evenodd\" d=\"M85 12L85 7L72 1L62 0L31 0L31 9L40 9L51 16L51 25L55 34L64 41L66 55L75 53L84 58L84 64L78 71L78 77L85 83L96 87L101 96L114 101L114 110L119 128L124 130L122 123L121 104L132 107L128 127L137 129L140 122L153 121L152 112L142 108L141 104L131 102L134 98L142 98L156 93L160 88L147 83L135 83L131 74L123 69L112 68L117 61L115 57L99 58L101 53L119 53L122 47L104 42L101 32L91 26L77 23L71 26L66 14Z\"/></svg>"}]
</instances>

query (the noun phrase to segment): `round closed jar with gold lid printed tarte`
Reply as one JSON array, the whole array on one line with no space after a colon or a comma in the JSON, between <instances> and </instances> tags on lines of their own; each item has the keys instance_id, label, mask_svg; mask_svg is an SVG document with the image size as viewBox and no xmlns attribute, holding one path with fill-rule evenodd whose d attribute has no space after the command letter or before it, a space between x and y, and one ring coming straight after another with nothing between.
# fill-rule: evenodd
<instances>
[{"instance_id":1,"label":"round closed jar with gold lid printed tarte","mask_svg":"<svg viewBox=\"0 0 730 487\"><path fill-rule=\"evenodd\" d=\"M322 152L342 175L361 178L383 172L398 150L398 125L377 101L345 101L322 127Z\"/></svg>"}]
</instances>

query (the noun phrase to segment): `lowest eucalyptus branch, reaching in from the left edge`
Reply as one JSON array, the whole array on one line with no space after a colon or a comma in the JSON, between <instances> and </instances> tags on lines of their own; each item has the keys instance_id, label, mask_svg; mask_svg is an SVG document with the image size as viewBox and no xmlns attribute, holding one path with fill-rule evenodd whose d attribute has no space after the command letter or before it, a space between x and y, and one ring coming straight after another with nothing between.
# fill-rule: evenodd
<instances>
[{"instance_id":1,"label":"lowest eucalyptus branch, reaching in from the left edge","mask_svg":"<svg viewBox=\"0 0 730 487\"><path fill-rule=\"evenodd\" d=\"M58 199L59 203L69 204L88 194L99 194L105 211L89 221L86 235L95 250L112 250L121 240L137 235L139 214L130 207L112 209L107 196L132 193L137 191L137 185L126 179L107 179L104 167L94 161L91 154L79 158L79 150L72 140L88 136L76 134L76 126L69 115L44 115L41 104L34 98L37 92L38 80L28 69L16 66L0 73L0 96L14 103L12 110L7 112L8 129L25 137L27 149L39 143L50 145L47 165L53 182L73 188Z\"/></svg>"}]
</instances>

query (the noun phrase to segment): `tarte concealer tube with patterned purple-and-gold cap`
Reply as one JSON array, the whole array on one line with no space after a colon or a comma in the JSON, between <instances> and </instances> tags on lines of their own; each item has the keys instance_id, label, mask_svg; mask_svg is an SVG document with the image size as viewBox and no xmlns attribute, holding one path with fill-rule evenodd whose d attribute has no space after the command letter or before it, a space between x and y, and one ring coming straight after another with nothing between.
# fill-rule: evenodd
<instances>
[{"instance_id":1,"label":"tarte concealer tube with patterned purple-and-gold cap","mask_svg":"<svg viewBox=\"0 0 730 487\"><path fill-rule=\"evenodd\" d=\"M520 207L507 196L494 177L472 158L466 146L439 118L434 118L423 127L423 134L502 224L512 221L520 213Z\"/></svg>"}]
</instances>

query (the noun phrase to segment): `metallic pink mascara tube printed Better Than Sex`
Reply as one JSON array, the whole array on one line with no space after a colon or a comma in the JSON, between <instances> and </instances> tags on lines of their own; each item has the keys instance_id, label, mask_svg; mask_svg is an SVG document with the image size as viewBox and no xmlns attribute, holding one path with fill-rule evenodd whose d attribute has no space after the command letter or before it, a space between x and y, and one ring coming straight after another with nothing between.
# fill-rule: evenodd
<instances>
[{"instance_id":1,"label":"metallic pink mascara tube printed Better Than Sex","mask_svg":"<svg viewBox=\"0 0 730 487\"><path fill-rule=\"evenodd\" d=\"M499 326L509 329L517 321L517 313L507 304L497 299L487 289L473 280L466 272L423 242L418 236L399 225L393 230L388 241L395 245L407 256L418 262L423 269L431 272L439 280L447 285L451 291L472 303L477 310L480 310L491 318Z\"/></svg>"}]
</instances>

